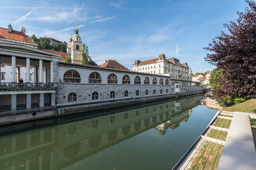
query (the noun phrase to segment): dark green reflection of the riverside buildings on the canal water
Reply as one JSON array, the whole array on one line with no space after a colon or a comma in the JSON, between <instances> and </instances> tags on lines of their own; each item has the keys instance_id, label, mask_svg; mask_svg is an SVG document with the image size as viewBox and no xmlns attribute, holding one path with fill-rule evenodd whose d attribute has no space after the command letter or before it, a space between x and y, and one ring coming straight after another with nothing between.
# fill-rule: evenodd
<instances>
[{"instance_id":1,"label":"dark green reflection of the riverside buildings on the canal water","mask_svg":"<svg viewBox=\"0 0 256 170\"><path fill-rule=\"evenodd\" d=\"M75 122L63 117L62 124L1 136L0 169L62 169L152 127L164 134L200 103L196 96Z\"/></svg>"}]
</instances>

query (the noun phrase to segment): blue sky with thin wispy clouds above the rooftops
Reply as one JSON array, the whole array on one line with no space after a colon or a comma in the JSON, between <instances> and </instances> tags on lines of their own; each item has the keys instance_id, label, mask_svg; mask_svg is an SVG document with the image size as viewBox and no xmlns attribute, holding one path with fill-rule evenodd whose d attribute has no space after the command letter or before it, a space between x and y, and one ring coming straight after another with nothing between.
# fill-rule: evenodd
<instances>
[{"instance_id":1,"label":"blue sky with thin wispy clouds above the rooftops","mask_svg":"<svg viewBox=\"0 0 256 170\"><path fill-rule=\"evenodd\" d=\"M23 25L29 36L68 42L77 22L97 64L116 59L131 69L134 60L164 53L196 73L214 69L203 48L245 6L243 0L1 1L0 27Z\"/></svg>"}]
</instances>

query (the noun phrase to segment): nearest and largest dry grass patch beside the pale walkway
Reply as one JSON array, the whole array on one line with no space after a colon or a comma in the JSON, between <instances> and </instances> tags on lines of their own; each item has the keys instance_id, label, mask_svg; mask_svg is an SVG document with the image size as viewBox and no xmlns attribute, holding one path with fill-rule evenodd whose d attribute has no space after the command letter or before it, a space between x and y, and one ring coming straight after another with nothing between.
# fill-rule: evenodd
<instances>
[{"instance_id":1,"label":"nearest and largest dry grass patch beside the pale walkway","mask_svg":"<svg viewBox=\"0 0 256 170\"><path fill-rule=\"evenodd\" d=\"M204 141L189 169L217 169L222 150L223 145Z\"/></svg>"}]
</instances>

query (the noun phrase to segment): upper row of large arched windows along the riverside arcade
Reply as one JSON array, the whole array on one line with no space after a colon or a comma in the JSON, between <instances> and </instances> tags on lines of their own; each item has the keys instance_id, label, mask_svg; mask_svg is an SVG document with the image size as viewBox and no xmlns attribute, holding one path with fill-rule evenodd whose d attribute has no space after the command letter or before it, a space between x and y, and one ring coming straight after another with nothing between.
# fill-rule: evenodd
<instances>
[{"instance_id":1,"label":"upper row of large arched windows along the riverside arcade","mask_svg":"<svg viewBox=\"0 0 256 170\"><path fill-rule=\"evenodd\" d=\"M74 69L70 69L68 71L65 72L64 76L63 76L63 82L64 83L81 83L81 76L80 74L74 70ZM97 83L97 84L100 84L102 82L102 78L101 78L101 75L97 72L93 72L89 75L89 78L88 78L88 82L89 83ZM116 84L118 82L117 80L117 76L116 74L109 74L108 76L108 83L109 84ZM131 79L130 77L125 74L122 78L122 84L130 84L131 83ZM146 76L144 78L144 81L141 82L141 78L140 76L136 76L134 78L134 84L142 84L144 83L145 85L149 85L150 84L150 80L148 78L148 76ZM165 85L169 85L169 80L168 78L166 78L165 82L163 80L163 78L160 78L159 80L159 85L163 85L165 83ZM152 84L153 85L157 85L157 79L156 77L154 77L152 79Z\"/></svg>"}]
</instances>

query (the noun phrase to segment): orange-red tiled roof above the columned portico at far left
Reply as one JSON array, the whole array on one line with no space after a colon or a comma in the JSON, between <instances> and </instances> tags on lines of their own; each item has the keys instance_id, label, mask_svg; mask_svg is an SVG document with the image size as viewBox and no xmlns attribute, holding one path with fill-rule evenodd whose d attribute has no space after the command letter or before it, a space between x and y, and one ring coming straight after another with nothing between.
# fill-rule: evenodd
<instances>
[{"instance_id":1,"label":"orange-red tiled roof above the columned portico at far left","mask_svg":"<svg viewBox=\"0 0 256 170\"><path fill-rule=\"evenodd\" d=\"M13 30L12 33L8 33L8 29L4 28L0 28L0 38L35 44L35 42L28 38L23 32Z\"/></svg>"}]
</instances>

